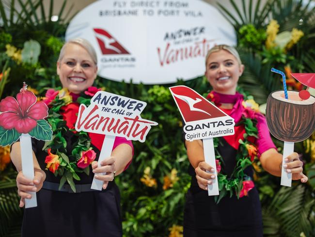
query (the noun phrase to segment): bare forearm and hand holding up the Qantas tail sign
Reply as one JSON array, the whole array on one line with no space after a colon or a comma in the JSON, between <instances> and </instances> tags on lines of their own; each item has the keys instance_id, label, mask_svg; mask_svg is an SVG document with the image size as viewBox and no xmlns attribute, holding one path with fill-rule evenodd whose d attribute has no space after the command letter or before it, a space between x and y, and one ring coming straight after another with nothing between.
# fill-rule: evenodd
<instances>
[{"instance_id":1,"label":"bare forearm and hand holding up the Qantas tail sign","mask_svg":"<svg viewBox=\"0 0 315 237\"><path fill-rule=\"evenodd\" d=\"M214 169L205 163L204 145L202 140L185 141L190 164L195 168L197 182L200 188L207 190L215 178ZM207 173L209 171L211 173Z\"/></svg>"}]
</instances>

